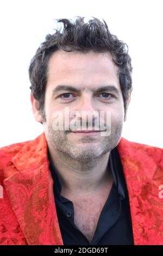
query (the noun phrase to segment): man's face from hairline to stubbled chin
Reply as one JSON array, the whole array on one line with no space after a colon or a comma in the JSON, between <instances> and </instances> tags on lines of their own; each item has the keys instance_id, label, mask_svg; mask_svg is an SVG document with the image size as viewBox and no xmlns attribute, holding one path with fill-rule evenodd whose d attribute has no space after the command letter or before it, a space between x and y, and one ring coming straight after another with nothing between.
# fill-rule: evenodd
<instances>
[{"instance_id":1,"label":"man's face from hairline to stubbled chin","mask_svg":"<svg viewBox=\"0 0 163 256\"><path fill-rule=\"evenodd\" d=\"M48 63L45 93L46 120L43 121L48 147L51 150L57 150L58 153L61 152L73 159L87 162L101 157L116 147L121 138L124 121L123 97L117 72L118 68L112 62L109 53L57 51L53 54ZM58 86L69 86L78 91L75 92L70 88L56 90ZM115 87L117 92L111 89L97 91L106 86ZM59 111L65 120L65 107L68 107L69 113L73 111L80 113L80 131L84 121L82 112L102 113L101 111L104 111L106 113L108 111L111 115L110 135L101 136L100 131L90 134L73 132L65 130L65 127L64 130L54 129L53 114ZM68 119L71 123L74 117L68 117ZM104 121L106 124L106 115ZM84 130L89 131L89 127Z\"/></svg>"}]
</instances>

